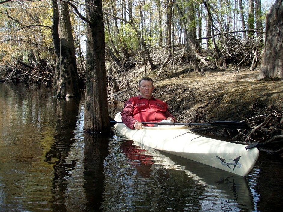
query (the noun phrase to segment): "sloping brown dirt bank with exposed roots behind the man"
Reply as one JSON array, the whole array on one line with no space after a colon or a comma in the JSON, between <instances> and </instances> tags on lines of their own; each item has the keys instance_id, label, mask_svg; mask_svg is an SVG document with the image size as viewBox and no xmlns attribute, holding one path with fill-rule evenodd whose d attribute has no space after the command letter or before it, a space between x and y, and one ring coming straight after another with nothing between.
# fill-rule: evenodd
<instances>
[{"instance_id":1,"label":"sloping brown dirt bank with exposed roots behind the man","mask_svg":"<svg viewBox=\"0 0 283 212\"><path fill-rule=\"evenodd\" d=\"M204 76L187 65L167 65L158 78L157 71L146 74L154 80L153 95L169 105L178 122L242 121L251 129L202 131L241 142L281 141L281 145L267 151L282 152L283 80L257 81L259 70L249 71L249 67L229 66L225 70L205 67ZM119 101L125 101L130 93L139 94L137 85L145 76L144 68L129 70L124 76L131 82L131 89L116 92L114 98Z\"/></svg>"}]
</instances>

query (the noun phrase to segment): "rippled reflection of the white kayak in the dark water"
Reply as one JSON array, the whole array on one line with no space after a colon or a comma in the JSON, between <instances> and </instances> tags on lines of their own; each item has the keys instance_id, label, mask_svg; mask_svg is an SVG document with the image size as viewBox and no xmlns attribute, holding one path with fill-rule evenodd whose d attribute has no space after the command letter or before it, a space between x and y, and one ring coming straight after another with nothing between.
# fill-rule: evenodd
<instances>
[{"instance_id":1,"label":"rippled reflection of the white kayak in the dark water","mask_svg":"<svg viewBox=\"0 0 283 212\"><path fill-rule=\"evenodd\" d=\"M133 148L138 148L138 144L134 142ZM184 171L190 178L194 179L197 184L203 185L205 191L202 194L199 204L207 204L206 201L213 201L213 210L221 211L223 203L225 203L226 211L234 211L233 209L239 208L242 210L253 211L253 201L248 181L245 177L234 175L215 169L192 160L187 160L168 153L161 153L151 147L141 145L141 150L147 150L142 155L148 154L151 156L151 161L154 164L160 164L167 169L174 169ZM137 151L134 151L137 152ZM218 198L211 199L211 196ZM207 205L206 205L207 206ZM204 206L205 207L205 206Z\"/></svg>"}]
</instances>

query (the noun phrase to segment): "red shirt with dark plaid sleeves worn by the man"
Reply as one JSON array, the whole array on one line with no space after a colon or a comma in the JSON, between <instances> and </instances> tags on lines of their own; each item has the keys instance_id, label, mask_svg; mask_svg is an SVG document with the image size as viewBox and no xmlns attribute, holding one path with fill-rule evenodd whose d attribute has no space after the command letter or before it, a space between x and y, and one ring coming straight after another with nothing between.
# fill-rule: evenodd
<instances>
[{"instance_id":1,"label":"red shirt with dark plaid sleeves worn by the man","mask_svg":"<svg viewBox=\"0 0 283 212\"><path fill-rule=\"evenodd\" d=\"M134 124L140 122L160 122L171 117L176 119L168 111L168 105L154 97L145 99L141 95L129 98L121 112L123 123L130 129L134 129ZM153 125L145 125L153 126Z\"/></svg>"}]
</instances>

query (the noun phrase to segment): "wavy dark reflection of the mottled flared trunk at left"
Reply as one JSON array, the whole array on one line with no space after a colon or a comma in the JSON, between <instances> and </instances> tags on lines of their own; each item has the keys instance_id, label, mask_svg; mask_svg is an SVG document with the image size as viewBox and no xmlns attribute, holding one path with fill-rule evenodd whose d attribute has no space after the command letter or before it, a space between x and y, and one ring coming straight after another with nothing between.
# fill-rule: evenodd
<instances>
[{"instance_id":1,"label":"wavy dark reflection of the mottled flared trunk at left","mask_svg":"<svg viewBox=\"0 0 283 212\"><path fill-rule=\"evenodd\" d=\"M57 114L54 121L54 143L45 154L45 161L53 165L54 177L52 181L52 207L54 211L66 211L64 195L67 190L66 177L71 177L70 171L75 167L76 161L66 162L72 144L75 140L73 130L76 127L80 99L56 99L53 101L53 111Z\"/></svg>"}]
</instances>

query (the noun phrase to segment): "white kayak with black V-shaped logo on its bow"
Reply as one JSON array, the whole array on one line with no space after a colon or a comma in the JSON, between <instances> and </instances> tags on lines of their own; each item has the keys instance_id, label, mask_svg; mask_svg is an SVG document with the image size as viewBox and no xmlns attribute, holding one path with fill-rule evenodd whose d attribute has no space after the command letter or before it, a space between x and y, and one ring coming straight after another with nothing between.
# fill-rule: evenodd
<instances>
[{"instance_id":1,"label":"white kayak with black V-shaped logo on its bow","mask_svg":"<svg viewBox=\"0 0 283 212\"><path fill-rule=\"evenodd\" d=\"M116 121L121 121L120 113ZM196 135L187 126L143 127L132 130L124 124L115 129L137 144L191 159L231 173L246 176L253 168L259 151L245 145Z\"/></svg>"}]
</instances>

